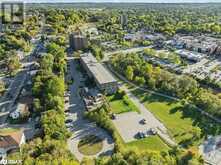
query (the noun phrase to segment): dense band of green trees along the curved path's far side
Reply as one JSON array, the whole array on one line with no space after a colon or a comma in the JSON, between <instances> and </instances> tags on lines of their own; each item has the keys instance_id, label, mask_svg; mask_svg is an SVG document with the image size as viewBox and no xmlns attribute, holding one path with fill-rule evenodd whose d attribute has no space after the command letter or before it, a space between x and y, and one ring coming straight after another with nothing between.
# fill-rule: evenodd
<instances>
[{"instance_id":1,"label":"dense band of green trees along the curved path's far side","mask_svg":"<svg viewBox=\"0 0 221 165\"><path fill-rule=\"evenodd\" d=\"M112 58L111 63L128 80L138 85L179 97L216 117L221 117L219 96L200 87L196 80L187 75L176 75L153 66L138 54L119 54Z\"/></svg>"}]
</instances>

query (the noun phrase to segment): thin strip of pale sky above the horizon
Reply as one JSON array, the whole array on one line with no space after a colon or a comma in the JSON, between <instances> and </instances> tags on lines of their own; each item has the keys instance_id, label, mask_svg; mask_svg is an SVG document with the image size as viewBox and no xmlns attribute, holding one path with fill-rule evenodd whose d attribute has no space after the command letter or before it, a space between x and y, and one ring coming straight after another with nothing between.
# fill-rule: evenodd
<instances>
[{"instance_id":1,"label":"thin strip of pale sky above the horizon","mask_svg":"<svg viewBox=\"0 0 221 165\"><path fill-rule=\"evenodd\" d=\"M10 0L0 0L0 1L10 1ZM112 2L112 3L210 3L210 2L220 2L221 0L13 0L13 1L23 1L27 3L43 3L43 2L95 2L95 3L102 3L102 2Z\"/></svg>"}]
</instances>

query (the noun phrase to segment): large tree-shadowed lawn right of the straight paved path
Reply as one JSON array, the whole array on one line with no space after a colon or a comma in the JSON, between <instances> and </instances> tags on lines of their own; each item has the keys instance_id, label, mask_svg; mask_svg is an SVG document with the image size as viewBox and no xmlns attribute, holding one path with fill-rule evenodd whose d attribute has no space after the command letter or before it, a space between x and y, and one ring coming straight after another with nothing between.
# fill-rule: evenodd
<instances>
[{"instance_id":1,"label":"large tree-shadowed lawn right of the straight paved path","mask_svg":"<svg viewBox=\"0 0 221 165\"><path fill-rule=\"evenodd\" d=\"M184 107L178 101L137 89L133 91L133 94L164 123L170 135L179 144L198 144L203 139L203 135L218 134L221 132L220 125L202 116L196 109ZM199 134L202 136L198 136Z\"/></svg>"}]
</instances>

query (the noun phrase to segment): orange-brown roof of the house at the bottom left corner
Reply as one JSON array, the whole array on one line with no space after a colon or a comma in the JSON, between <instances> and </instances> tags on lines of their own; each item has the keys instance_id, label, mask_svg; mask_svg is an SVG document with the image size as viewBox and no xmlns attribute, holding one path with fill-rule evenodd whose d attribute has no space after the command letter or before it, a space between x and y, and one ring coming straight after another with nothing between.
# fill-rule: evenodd
<instances>
[{"instance_id":1,"label":"orange-brown roof of the house at the bottom left corner","mask_svg":"<svg viewBox=\"0 0 221 165\"><path fill-rule=\"evenodd\" d=\"M19 146L23 131L0 132L0 148Z\"/></svg>"}]
</instances>

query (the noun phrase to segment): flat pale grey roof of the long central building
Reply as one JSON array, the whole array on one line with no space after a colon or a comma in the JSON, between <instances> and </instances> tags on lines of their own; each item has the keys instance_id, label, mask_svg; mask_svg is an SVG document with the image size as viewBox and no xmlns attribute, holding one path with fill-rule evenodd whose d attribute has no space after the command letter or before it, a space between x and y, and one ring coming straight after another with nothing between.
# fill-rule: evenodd
<instances>
[{"instance_id":1,"label":"flat pale grey roof of the long central building","mask_svg":"<svg viewBox=\"0 0 221 165\"><path fill-rule=\"evenodd\" d=\"M117 82L112 74L91 53L81 54L80 58L99 84Z\"/></svg>"}]
</instances>

